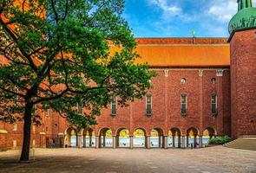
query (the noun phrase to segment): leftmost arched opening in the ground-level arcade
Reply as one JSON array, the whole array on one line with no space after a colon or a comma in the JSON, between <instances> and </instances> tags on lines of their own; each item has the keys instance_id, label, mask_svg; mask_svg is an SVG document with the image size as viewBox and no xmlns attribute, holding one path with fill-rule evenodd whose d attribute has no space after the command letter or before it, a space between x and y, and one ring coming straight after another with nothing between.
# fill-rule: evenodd
<instances>
[{"instance_id":1,"label":"leftmost arched opening in the ground-level arcade","mask_svg":"<svg viewBox=\"0 0 256 173\"><path fill-rule=\"evenodd\" d=\"M77 147L78 144L78 138L77 138L77 132L74 128L69 127L67 131L65 132L65 139L64 139L64 146L65 147Z\"/></svg>"}]
</instances>

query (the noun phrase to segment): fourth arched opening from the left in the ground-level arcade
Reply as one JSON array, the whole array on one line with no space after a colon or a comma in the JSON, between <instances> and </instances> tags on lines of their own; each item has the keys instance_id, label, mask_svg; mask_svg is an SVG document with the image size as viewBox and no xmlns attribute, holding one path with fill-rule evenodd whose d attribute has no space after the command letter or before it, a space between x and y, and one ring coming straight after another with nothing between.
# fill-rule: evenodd
<instances>
[{"instance_id":1,"label":"fourth arched opening from the left in the ground-level arcade","mask_svg":"<svg viewBox=\"0 0 256 173\"><path fill-rule=\"evenodd\" d=\"M121 148L130 147L129 131L122 128L116 132L116 146Z\"/></svg>"}]
</instances>

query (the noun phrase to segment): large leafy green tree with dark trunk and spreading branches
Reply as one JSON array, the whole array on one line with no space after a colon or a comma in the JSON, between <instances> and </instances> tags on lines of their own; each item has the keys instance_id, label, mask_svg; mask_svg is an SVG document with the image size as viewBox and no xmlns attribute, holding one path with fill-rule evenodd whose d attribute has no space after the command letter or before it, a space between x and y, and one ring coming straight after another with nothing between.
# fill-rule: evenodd
<instances>
[{"instance_id":1,"label":"large leafy green tree with dark trunk and spreading branches","mask_svg":"<svg viewBox=\"0 0 256 173\"><path fill-rule=\"evenodd\" d=\"M0 55L8 60L0 66L0 119L23 120L20 161L28 161L30 126L41 122L35 105L85 128L113 96L121 106L140 99L154 73L135 63L123 0L17 2L0 3ZM86 112L77 112L77 104Z\"/></svg>"}]
</instances>

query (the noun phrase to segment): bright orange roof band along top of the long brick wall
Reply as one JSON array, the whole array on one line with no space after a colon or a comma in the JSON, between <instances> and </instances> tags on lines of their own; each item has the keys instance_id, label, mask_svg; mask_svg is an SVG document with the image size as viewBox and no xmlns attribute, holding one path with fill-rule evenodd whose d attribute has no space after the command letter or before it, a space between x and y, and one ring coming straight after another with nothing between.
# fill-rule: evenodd
<instances>
[{"instance_id":1,"label":"bright orange roof band along top of the long brick wall","mask_svg":"<svg viewBox=\"0 0 256 173\"><path fill-rule=\"evenodd\" d=\"M150 67L229 67L229 44L223 38L136 39L138 63ZM117 51L118 48L111 48ZM111 51L111 52L112 52Z\"/></svg>"}]
</instances>

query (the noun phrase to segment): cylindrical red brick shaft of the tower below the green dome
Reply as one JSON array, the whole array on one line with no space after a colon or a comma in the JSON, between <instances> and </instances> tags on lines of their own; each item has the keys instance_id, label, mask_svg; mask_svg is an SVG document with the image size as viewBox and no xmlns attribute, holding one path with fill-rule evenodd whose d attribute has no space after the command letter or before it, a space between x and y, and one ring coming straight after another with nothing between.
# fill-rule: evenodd
<instances>
[{"instance_id":1,"label":"cylindrical red brick shaft of the tower below the green dome","mask_svg":"<svg viewBox=\"0 0 256 173\"><path fill-rule=\"evenodd\" d=\"M231 48L232 136L256 134L256 29L236 32Z\"/></svg>"}]
</instances>

